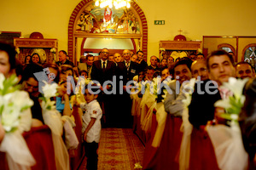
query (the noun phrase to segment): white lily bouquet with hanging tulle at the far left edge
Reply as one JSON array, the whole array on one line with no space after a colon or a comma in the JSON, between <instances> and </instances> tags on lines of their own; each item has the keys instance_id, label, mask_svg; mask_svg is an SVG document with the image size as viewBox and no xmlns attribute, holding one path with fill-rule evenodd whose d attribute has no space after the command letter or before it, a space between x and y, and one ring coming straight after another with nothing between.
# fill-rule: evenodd
<instances>
[{"instance_id":1,"label":"white lily bouquet with hanging tulle at the far left edge","mask_svg":"<svg viewBox=\"0 0 256 170\"><path fill-rule=\"evenodd\" d=\"M5 131L0 150L6 153L9 169L29 169L35 160L21 133L22 127L31 127L33 101L17 83L14 75L5 78L0 74L0 123Z\"/></svg>"}]
</instances>

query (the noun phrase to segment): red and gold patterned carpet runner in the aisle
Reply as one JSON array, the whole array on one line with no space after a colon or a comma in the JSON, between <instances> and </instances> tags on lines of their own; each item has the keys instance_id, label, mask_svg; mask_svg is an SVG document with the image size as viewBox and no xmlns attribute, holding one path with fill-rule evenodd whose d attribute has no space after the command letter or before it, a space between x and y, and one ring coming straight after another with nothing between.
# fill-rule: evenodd
<instances>
[{"instance_id":1,"label":"red and gold patterned carpet runner in the aisle","mask_svg":"<svg viewBox=\"0 0 256 170\"><path fill-rule=\"evenodd\" d=\"M131 128L102 128L98 170L140 170L143 153L144 146Z\"/></svg>"}]
</instances>

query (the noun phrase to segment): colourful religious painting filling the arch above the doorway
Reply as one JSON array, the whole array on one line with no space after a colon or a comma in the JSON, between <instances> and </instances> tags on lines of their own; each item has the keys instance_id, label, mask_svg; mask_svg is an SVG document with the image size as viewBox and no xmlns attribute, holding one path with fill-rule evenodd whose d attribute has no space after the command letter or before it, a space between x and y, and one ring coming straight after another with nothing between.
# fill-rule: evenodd
<instances>
[{"instance_id":1,"label":"colourful religious painting filling the arch above the doorway","mask_svg":"<svg viewBox=\"0 0 256 170\"><path fill-rule=\"evenodd\" d=\"M100 8L91 3L84 8L76 32L140 34L139 20L131 8Z\"/></svg>"}]
</instances>

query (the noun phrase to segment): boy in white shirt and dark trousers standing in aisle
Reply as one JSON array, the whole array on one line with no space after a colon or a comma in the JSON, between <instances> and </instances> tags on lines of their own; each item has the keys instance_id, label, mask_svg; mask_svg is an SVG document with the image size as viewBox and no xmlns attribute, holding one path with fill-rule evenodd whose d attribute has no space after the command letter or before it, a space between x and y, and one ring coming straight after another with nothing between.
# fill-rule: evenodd
<instances>
[{"instance_id":1,"label":"boy in white shirt and dark trousers standing in aisle","mask_svg":"<svg viewBox=\"0 0 256 170\"><path fill-rule=\"evenodd\" d=\"M101 118L102 109L98 101L97 94L90 93L88 86L85 87L84 99L86 104L80 104L83 111L83 139L84 151L87 157L87 170L96 170L98 163L97 149L99 147L101 137Z\"/></svg>"}]
</instances>

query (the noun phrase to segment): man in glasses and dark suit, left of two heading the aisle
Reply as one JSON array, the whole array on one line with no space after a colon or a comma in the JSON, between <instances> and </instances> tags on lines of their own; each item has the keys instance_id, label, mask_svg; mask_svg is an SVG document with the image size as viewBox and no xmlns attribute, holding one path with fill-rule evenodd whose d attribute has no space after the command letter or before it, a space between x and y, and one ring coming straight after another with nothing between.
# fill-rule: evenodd
<instances>
[{"instance_id":1,"label":"man in glasses and dark suit, left of two heading the aisle","mask_svg":"<svg viewBox=\"0 0 256 170\"><path fill-rule=\"evenodd\" d=\"M91 68L91 80L100 82L103 92L99 94L98 101L102 106L102 111L106 117L106 124L103 126L112 127L113 122L113 94L106 94L106 90L111 91L113 87L106 83L112 81L115 75L116 65L113 61L108 60L108 48L103 48L101 59L96 60ZM105 83L104 83L105 82ZM115 84L113 84L115 86ZM104 93L105 92L105 93ZM104 119L104 118L103 118Z\"/></svg>"}]
</instances>

